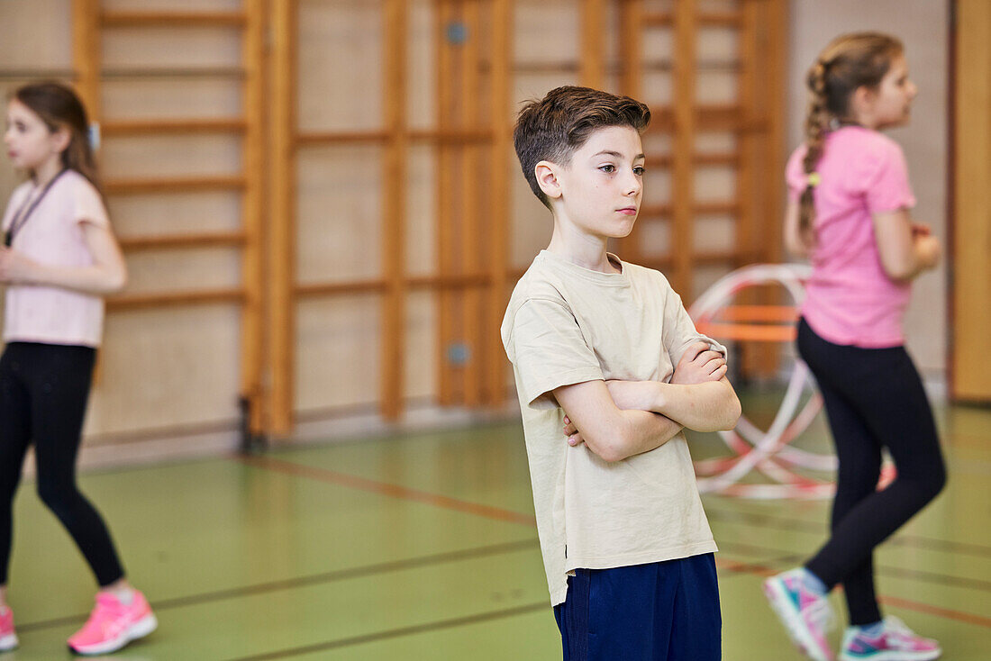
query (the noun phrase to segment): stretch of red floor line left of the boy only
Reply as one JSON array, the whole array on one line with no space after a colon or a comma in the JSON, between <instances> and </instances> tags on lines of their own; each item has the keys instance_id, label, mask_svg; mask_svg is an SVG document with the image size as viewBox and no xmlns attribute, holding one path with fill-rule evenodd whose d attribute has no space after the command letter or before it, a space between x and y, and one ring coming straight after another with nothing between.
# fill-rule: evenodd
<instances>
[{"instance_id":1,"label":"stretch of red floor line left of the boy only","mask_svg":"<svg viewBox=\"0 0 991 661\"><path fill-rule=\"evenodd\" d=\"M282 461L273 457L239 455L237 460L243 464L248 464L249 466L277 471L287 475L310 478L312 480L326 482L333 485L340 485L341 487L357 489L372 494L380 494L382 496L392 496L403 500L423 502L425 504L434 505L435 507L444 507L446 509L453 509L455 511L461 511L468 514L475 514L476 516L484 516L486 518L495 519L496 521L521 523L531 527L534 527L537 524L537 519L532 514L522 514L509 509L492 507L490 505L479 504L477 502L469 502L468 500L459 500L458 498L452 498L449 496L439 496L437 494L421 492L415 489L409 489L407 487L399 487L398 485L392 485L385 482L367 480L354 475L348 475L347 473L338 473L337 471L331 471L328 469L294 464L292 462Z\"/></svg>"}]
</instances>

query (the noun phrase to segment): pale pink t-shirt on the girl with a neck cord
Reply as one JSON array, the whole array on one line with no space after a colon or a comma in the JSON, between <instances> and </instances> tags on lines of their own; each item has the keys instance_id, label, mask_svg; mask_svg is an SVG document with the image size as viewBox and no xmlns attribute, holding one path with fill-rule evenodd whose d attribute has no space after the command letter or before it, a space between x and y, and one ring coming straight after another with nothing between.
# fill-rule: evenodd
<instances>
[{"instance_id":1,"label":"pale pink t-shirt on the girl with a neck cord","mask_svg":"<svg viewBox=\"0 0 991 661\"><path fill-rule=\"evenodd\" d=\"M14 190L3 217L4 232L29 196L34 198L39 192L31 181ZM106 207L93 184L79 172L67 170L17 232L12 248L45 265L92 266L83 223L110 226ZM103 299L99 296L48 286L7 287L5 342L98 347L102 334Z\"/></svg>"}]
</instances>

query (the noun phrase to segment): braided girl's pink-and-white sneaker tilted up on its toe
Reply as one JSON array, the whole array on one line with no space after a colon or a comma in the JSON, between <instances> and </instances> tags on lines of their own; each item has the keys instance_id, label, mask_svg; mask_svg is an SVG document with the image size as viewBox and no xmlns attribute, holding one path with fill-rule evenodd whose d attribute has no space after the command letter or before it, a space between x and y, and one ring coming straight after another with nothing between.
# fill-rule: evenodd
<instances>
[{"instance_id":1,"label":"braided girl's pink-and-white sneaker tilted up on its toe","mask_svg":"<svg viewBox=\"0 0 991 661\"><path fill-rule=\"evenodd\" d=\"M826 630L832 624L832 608L802 581L803 569L772 576L764 582L764 594L799 649L815 661L832 661Z\"/></svg>"}]
</instances>

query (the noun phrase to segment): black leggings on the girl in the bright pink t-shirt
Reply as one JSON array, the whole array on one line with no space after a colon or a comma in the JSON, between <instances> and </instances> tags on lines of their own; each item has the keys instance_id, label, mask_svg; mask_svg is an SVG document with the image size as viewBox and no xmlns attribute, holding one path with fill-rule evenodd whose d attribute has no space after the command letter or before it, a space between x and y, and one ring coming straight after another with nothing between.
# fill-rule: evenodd
<instances>
[{"instance_id":1,"label":"black leggings on the girl in the bright pink t-shirt","mask_svg":"<svg viewBox=\"0 0 991 661\"><path fill-rule=\"evenodd\" d=\"M839 459L832 535L806 567L832 589L843 584L853 625L881 619L874 547L946 483L933 411L904 347L860 349L826 342L799 321L798 348L826 403ZM881 448L897 477L877 491Z\"/></svg>"}]
</instances>

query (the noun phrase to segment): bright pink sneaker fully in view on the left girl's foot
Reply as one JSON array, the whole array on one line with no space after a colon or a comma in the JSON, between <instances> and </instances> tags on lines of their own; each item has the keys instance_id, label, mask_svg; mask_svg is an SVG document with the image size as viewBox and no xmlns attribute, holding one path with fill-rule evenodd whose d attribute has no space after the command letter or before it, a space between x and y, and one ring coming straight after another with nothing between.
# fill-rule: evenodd
<instances>
[{"instance_id":1,"label":"bright pink sneaker fully in view on the left girl's foot","mask_svg":"<svg viewBox=\"0 0 991 661\"><path fill-rule=\"evenodd\" d=\"M68 639L68 648L76 654L115 652L147 636L158 625L152 606L137 590L130 604L122 604L109 593L97 593L96 607L83 627Z\"/></svg>"}]
</instances>

